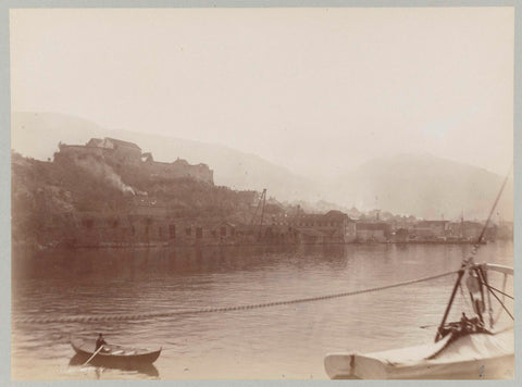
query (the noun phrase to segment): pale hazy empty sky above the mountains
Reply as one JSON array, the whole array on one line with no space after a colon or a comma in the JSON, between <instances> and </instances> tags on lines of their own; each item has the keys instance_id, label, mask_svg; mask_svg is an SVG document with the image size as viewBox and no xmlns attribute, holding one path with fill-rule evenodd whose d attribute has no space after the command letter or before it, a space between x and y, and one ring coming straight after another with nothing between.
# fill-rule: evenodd
<instances>
[{"instance_id":1,"label":"pale hazy empty sky above the mountains","mask_svg":"<svg viewBox=\"0 0 522 387\"><path fill-rule=\"evenodd\" d=\"M299 173L512 161L513 9L11 12L12 110L217 142Z\"/></svg>"}]
</instances>

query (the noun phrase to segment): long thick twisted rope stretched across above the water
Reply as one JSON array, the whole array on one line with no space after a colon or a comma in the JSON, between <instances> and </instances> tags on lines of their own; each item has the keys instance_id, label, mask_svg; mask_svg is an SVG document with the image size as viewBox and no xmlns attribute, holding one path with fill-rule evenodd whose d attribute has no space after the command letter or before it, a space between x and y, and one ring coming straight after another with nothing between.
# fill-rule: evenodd
<instances>
[{"instance_id":1,"label":"long thick twisted rope stretched across above the water","mask_svg":"<svg viewBox=\"0 0 522 387\"><path fill-rule=\"evenodd\" d=\"M312 301L321 301L321 300L328 300L333 298L339 297L348 297L348 296L357 296L363 295L373 291L381 291L391 288L397 288L400 286L408 286L418 283L423 283L427 280L433 280L442 277L446 277L452 274L458 273L458 271L446 272L443 274L432 275L430 277L423 277L419 279L411 279L401 283L396 283L391 285L378 286L369 289L361 289L361 290L353 290L353 291L345 291L338 292L333 295L325 295L325 296L318 296L318 297L309 297L309 298L299 298L294 300L284 300L284 301L273 301L273 302L263 302L263 303L252 303L246 305L231 305L231 307L220 307L220 308L201 308L201 309L187 309L187 310L176 310L170 312L150 312L150 313L132 313L132 314L103 314L103 315L77 315L77 316L62 316L62 317L24 317L24 319L13 319L13 323L26 323L26 324L46 324L46 323L92 323L92 322L110 322L110 321L130 321L130 320L147 320L153 317L174 317L179 315L187 315L187 314L201 314L201 313L216 313L216 312L232 312L232 311L243 311L243 310L250 310L250 309L260 309L260 308L270 308L270 307L278 307L278 305L287 305L293 303L301 303L301 302L312 302Z\"/></svg>"}]
</instances>

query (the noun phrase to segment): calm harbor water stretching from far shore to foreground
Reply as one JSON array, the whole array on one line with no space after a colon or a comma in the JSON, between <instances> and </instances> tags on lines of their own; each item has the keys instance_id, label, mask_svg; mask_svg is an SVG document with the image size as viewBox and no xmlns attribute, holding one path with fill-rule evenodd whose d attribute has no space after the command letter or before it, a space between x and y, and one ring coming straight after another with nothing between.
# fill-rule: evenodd
<instances>
[{"instance_id":1,"label":"calm harbor water stretching from far shore to foreground","mask_svg":"<svg viewBox=\"0 0 522 387\"><path fill-rule=\"evenodd\" d=\"M150 313L291 300L457 270L468 245L77 249L13 254L13 319ZM511 265L511 242L476 261ZM324 379L325 353L433 341L456 276L273 308L105 323L12 324L13 379ZM464 305L460 295L457 307ZM512 307L511 307L512 308ZM456 308L456 320L460 310ZM162 346L151 367L70 364L72 334ZM73 360L74 363L74 360Z\"/></svg>"}]
</instances>

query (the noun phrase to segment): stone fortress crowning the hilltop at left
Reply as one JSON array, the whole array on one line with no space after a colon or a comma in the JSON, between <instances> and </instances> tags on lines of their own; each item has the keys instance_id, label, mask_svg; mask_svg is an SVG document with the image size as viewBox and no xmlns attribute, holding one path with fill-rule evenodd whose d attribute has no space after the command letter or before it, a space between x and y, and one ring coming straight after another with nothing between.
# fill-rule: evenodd
<instances>
[{"instance_id":1,"label":"stone fortress crowning the hilltop at left","mask_svg":"<svg viewBox=\"0 0 522 387\"><path fill-rule=\"evenodd\" d=\"M142 153L134 142L114 138L92 138L85 146L59 145L60 152L54 154L54 160L82 157L99 157L111 160L120 165L139 168L157 178L183 178L189 177L199 182L213 185L213 171L207 164L191 165L186 160L177 159L174 162L154 161L150 152Z\"/></svg>"}]
</instances>

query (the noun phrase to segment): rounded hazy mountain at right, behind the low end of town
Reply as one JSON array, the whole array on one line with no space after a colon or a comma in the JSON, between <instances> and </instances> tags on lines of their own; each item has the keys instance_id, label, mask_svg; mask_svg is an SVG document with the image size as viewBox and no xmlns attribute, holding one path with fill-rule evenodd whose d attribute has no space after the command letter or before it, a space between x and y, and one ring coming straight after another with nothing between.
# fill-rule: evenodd
<instances>
[{"instance_id":1,"label":"rounded hazy mountain at right, behind the low end of town","mask_svg":"<svg viewBox=\"0 0 522 387\"><path fill-rule=\"evenodd\" d=\"M357 208L384 209L424 219L487 217L504 177L431 154L374 159L345 172L339 191ZM338 199L337 199L338 200ZM513 183L508 182L494 221L512 221Z\"/></svg>"}]
</instances>

